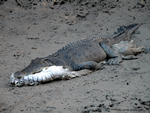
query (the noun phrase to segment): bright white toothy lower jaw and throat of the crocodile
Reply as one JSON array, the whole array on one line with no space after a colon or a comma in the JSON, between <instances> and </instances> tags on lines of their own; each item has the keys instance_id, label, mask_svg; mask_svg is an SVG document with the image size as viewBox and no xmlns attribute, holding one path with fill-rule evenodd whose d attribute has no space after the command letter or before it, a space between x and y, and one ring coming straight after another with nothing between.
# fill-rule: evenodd
<instances>
[{"instance_id":1,"label":"bright white toothy lower jaw and throat of the crocodile","mask_svg":"<svg viewBox=\"0 0 150 113\"><path fill-rule=\"evenodd\" d=\"M39 73L23 77L15 77L14 74L12 74L10 83L17 87L24 85L33 86L42 82L49 82L55 79L69 79L70 77L72 77L72 72L68 71L68 69L63 69L62 66L50 66L43 68Z\"/></svg>"}]
</instances>

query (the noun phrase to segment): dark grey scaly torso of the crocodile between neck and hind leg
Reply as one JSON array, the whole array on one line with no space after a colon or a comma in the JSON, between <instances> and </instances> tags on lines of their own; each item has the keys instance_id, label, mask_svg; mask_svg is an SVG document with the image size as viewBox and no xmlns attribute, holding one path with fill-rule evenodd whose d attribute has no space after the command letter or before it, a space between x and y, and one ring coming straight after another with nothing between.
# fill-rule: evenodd
<instances>
[{"instance_id":1,"label":"dark grey scaly torso of the crocodile between neck and hind leg","mask_svg":"<svg viewBox=\"0 0 150 113\"><path fill-rule=\"evenodd\" d=\"M87 38L72 42L52 54L52 57L62 59L67 62L67 65L86 61L100 62L106 58L106 53L100 47L99 42L95 41L96 39Z\"/></svg>"}]
</instances>

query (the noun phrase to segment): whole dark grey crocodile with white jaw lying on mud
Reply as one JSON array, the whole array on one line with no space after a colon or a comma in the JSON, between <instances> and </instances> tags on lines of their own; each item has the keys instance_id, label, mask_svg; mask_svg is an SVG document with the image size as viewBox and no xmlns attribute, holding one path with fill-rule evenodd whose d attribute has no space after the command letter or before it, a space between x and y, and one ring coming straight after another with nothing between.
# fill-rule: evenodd
<instances>
[{"instance_id":1,"label":"whole dark grey crocodile with white jaw lying on mud","mask_svg":"<svg viewBox=\"0 0 150 113\"><path fill-rule=\"evenodd\" d=\"M80 39L42 58L36 58L21 71L11 74L15 86L35 85L56 79L86 75L103 65L119 65L123 59L135 59L144 51L131 41L131 34L141 24L121 26L113 35Z\"/></svg>"}]
</instances>

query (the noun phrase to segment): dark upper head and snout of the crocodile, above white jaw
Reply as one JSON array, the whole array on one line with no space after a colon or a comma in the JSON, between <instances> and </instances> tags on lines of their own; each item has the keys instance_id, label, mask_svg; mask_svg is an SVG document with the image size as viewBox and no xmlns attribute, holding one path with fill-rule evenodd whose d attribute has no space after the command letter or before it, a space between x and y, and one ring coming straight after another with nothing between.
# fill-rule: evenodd
<instances>
[{"instance_id":1,"label":"dark upper head and snout of the crocodile, above white jaw","mask_svg":"<svg viewBox=\"0 0 150 113\"><path fill-rule=\"evenodd\" d=\"M40 73L45 67L52 65L53 64L47 58L36 58L23 70L12 73L10 83L15 86L22 86L24 85L24 77Z\"/></svg>"}]
</instances>

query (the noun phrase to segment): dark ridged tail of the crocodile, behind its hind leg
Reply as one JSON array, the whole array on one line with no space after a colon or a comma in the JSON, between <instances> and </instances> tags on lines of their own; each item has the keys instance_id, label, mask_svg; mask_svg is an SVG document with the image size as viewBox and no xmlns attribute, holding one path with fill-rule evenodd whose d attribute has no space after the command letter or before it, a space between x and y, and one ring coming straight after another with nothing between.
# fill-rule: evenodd
<instances>
[{"instance_id":1,"label":"dark ridged tail of the crocodile, behind its hind leg","mask_svg":"<svg viewBox=\"0 0 150 113\"><path fill-rule=\"evenodd\" d=\"M109 37L111 40L110 45L119 43L120 41L130 41L132 33L141 25L142 24L135 23L128 26L121 26L117 29L117 32Z\"/></svg>"}]
</instances>

